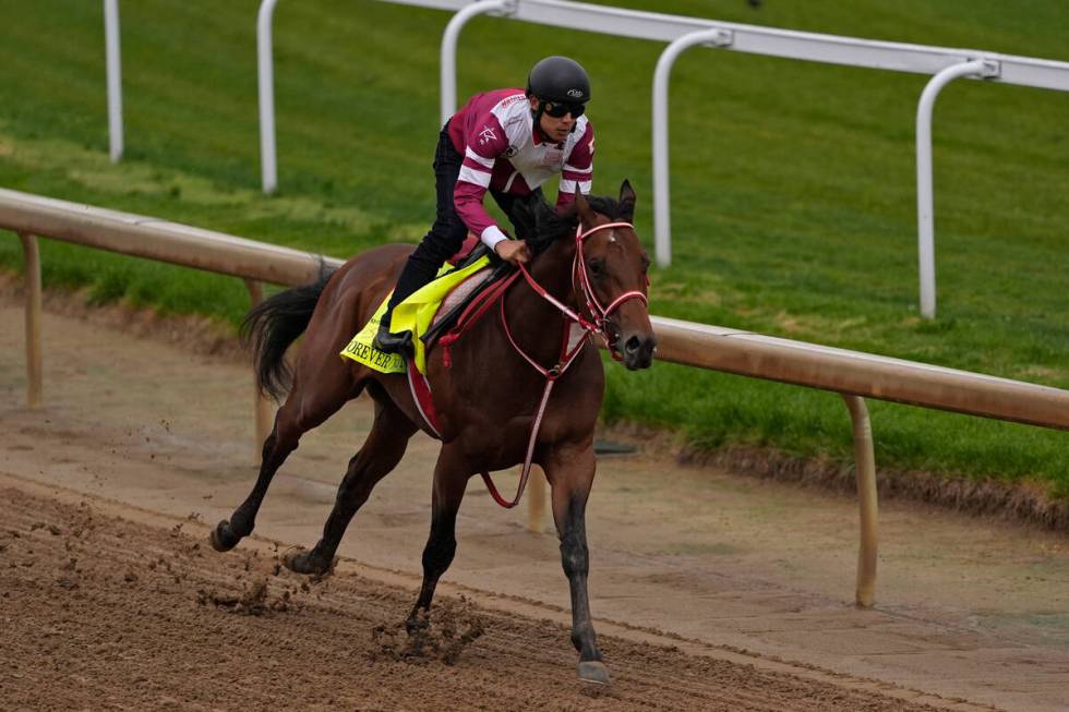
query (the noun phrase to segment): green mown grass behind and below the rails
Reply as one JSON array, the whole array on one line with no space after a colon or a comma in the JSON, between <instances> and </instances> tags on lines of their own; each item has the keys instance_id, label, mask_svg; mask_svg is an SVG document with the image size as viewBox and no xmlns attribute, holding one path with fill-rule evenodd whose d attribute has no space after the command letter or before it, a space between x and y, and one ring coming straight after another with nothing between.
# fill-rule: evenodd
<instances>
[{"instance_id":1,"label":"green mown grass behind and below the rails","mask_svg":"<svg viewBox=\"0 0 1069 712\"><path fill-rule=\"evenodd\" d=\"M100 3L7 0L0 185L348 256L413 241L434 204L442 12L371 0L281 2L279 178L259 192L256 0L122 4L127 152L107 160ZM627 7L1069 60L1069 5L995 0ZM328 17L328 19L326 19ZM459 95L515 85L538 58L593 76L596 191L639 192L652 249L650 89L662 44L489 17L464 31ZM958 82L935 116L939 318L917 317L913 122L926 77L690 50L672 76L674 265L652 311L1069 387L1069 96ZM48 285L235 323L239 280L71 245ZM14 239L0 265L20 268ZM877 462L1036 481L1069 496L1065 433L873 402ZM707 448L850 459L831 394L657 364L609 370L604 417Z\"/></svg>"}]
</instances>

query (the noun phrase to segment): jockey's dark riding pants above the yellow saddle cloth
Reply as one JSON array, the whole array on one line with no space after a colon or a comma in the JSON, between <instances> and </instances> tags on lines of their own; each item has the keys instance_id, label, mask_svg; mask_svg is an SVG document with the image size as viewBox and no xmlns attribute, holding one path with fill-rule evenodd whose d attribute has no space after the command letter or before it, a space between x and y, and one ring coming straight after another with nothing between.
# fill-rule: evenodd
<instances>
[{"instance_id":1,"label":"jockey's dark riding pants above the yellow saddle cloth","mask_svg":"<svg viewBox=\"0 0 1069 712\"><path fill-rule=\"evenodd\" d=\"M431 231L424 236L422 242L416 248L405 264L400 277L397 279L397 287L389 298L389 309L383 315L382 323L389 324L394 306L400 304L406 298L427 285L437 274L439 268L445 261L460 250L464 239L468 237L468 226L464 224L453 203L453 190L456 188L457 178L460 176L460 164L464 156L453 145L449 138L449 122L442 128L439 135L437 149L434 152L434 188L437 193L437 214ZM490 191L497 205L511 214L514 197L497 191Z\"/></svg>"}]
</instances>

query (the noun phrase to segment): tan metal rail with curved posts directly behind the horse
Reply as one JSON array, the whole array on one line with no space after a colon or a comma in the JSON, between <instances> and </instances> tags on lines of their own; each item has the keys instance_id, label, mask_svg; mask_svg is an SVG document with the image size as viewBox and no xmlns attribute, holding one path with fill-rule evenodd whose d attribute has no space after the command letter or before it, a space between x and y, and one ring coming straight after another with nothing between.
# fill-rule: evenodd
<instances>
[{"instance_id":1,"label":"tan metal rail with curved posts directly behind the horse","mask_svg":"<svg viewBox=\"0 0 1069 712\"><path fill-rule=\"evenodd\" d=\"M19 234L26 264L27 402L43 399L40 258L37 237L157 260L242 278L253 303L262 282L298 285L312 279L319 257L229 234L0 189L0 229ZM338 266L337 260L326 260ZM833 349L776 337L653 317L658 360L839 393L853 424L861 543L855 600L875 599L878 543L876 469L865 398L877 398L999 420L1069 430L1069 390L965 371ZM256 397L256 448L271 429L272 411ZM544 518L536 488L528 521Z\"/></svg>"}]
</instances>

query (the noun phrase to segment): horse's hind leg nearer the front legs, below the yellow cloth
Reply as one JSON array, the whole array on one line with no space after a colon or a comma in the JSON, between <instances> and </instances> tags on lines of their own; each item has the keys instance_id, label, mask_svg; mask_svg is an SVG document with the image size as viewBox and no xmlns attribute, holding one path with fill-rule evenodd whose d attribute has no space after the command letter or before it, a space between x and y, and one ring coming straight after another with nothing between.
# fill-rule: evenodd
<instances>
[{"instance_id":1,"label":"horse's hind leg nearer the front legs, below the yellow cloth","mask_svg":"<svg viewBox=\"0 0 1069 712\"><path fill-rule=\"evenodd\" d=\"M283 563L297 574L322 575L334 564L349 522L371 496L375 484L400 462L416 425L385 397L376 398L375 423L363 447L349 460L349 468L338 486L334 508L323 526L323 536L311 551L295 550Z\"/></svg>"}]
</instances>

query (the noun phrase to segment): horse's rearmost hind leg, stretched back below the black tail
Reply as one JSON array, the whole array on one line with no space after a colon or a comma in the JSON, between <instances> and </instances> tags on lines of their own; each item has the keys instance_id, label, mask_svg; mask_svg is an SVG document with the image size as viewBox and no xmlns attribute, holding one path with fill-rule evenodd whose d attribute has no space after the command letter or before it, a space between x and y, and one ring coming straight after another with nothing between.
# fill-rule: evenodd
<instances>
[{"instance_id":1,"label":"horse's rearmost hind leg, stretched back below the black tail","mask_svg":"<svg viewBox=\"0 0 1069 712\"><path fill-rule=\"evenodd\" d=\"M275 473L290 452L297 449L301 436L340 410L351 397L349 389L345 387L321 388L315 394L309 395L298 382L286 398L286 402L278 409L275 426L264 441L260 474L252 492L235 509L230 519L224 519L212 530L211 542L215 551L228 552L252 533L256 523L256 514Z\"/></svg>"}]
</instances>

